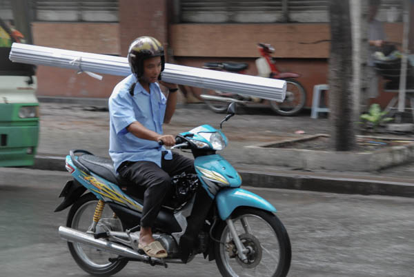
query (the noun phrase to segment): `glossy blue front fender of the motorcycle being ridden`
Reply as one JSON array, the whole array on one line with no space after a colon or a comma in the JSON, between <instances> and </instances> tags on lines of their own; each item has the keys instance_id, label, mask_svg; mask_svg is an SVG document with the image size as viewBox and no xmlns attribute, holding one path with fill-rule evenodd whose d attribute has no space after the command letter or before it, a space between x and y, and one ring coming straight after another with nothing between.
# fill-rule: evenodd
<instances>
[{"instance_id":1,"label":"glossy blue front fender of the motorcycle being ridden","mask_svg":"<svg viewBox=\"0 0 414 277\"><path fill-rule=\"evenodd\" d=\"M275 207L264 198L241 188L222 189L217 193L216 202L221 220L226 220L237 207L241 206L276 212Z\"/></svg>"}]
</instances>

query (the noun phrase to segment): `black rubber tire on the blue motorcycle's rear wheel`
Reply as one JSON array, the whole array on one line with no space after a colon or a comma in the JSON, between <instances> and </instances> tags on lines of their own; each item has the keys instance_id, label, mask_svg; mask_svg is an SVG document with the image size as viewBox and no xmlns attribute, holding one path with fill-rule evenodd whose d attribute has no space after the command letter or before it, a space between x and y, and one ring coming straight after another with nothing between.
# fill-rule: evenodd
<instances>
[{"instance_id":1,"label":"black rubber tire on the blue motorcycle's rear wheel","mask_svg":"<svg viewBox=\"0 0 414 277\"><path fill-rule=\"evenodd\" d=\"M76 201L75 204L73 204L72 207L70 208L66 226L73 228L73 229L79 229L77 226L79 225L77 224L77 221L79 221L79 216L82 215L81 213L87 207L94 207L93 211L95 211L97 201L98 201L97 198L92 193L84 194L83 196L81 196L81 198L79 198L79 200ZM110 208L108 205L106 205L105 209L110 209ZM104 212L105 212L105 209L104 209ZM92 216L90 216L90 223L92 223ZM79 229L79 230L83 232L86 231L84 228ZM121 227L120 231L123 231L123 230L124 230L124 227ZM94 261L86 260L86 259L89 259L89 257L85 252L83 252L83 249L81 248L81 245L79 243L68 242L68 247L69 247L70 254L74 258L75 262L79 265L79 267L81 267L81 269L83 269L84 271L88 272L88 274L92 274L95 276L110 276L112 274L116 274L118 271L123 269L128 263L128 260L117 260L116 262L113 262L113 263L109 262L108 260L108 263L106 264L99 265L99 266L98 264L96 264L97 266L94 266L93 265L93 263L95 263ZM89 249L91 250L91 252L96 251L97 253L99 253L99 250L97 249L92 249L92 247L89 247Z\"/></svg>"}]
</instances>

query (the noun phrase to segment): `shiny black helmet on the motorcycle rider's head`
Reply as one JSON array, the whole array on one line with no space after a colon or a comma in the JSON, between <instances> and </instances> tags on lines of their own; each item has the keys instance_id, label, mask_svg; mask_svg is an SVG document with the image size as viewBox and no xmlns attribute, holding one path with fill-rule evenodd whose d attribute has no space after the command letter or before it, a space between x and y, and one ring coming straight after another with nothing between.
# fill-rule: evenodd
<instances>
[{"instance_id":1,"label":"shiny black helmet on the motorcycle rider's head","mask_svg":"<svg viewBox=\"0 0 414 277\"><path fill-rule=\"evenodd\" d=\"M137 79L144 73L144 59L158 56L161 57L161 71L163 71L165 65L164 48L157 39L153 37L139 37L132 41L128 50L128 63Z\"/></svg>"}]
</instances>

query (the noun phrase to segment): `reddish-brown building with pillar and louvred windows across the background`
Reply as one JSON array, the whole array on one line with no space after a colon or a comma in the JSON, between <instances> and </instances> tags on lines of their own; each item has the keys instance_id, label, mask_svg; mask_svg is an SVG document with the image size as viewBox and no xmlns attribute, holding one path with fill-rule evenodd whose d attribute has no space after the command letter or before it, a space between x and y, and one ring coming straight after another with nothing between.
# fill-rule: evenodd
<instances>
[{"instance_id":1,"label":"reddish-brown building with pillar and louvred windows across the background","mask_svg":"<svg viewBox=\"0 0 414 277\"><path fill-rule=\"evenodd\" d=\"M1 3L7 8L6 2L0 0L0 8ZM61 1L59 6L53 6L56 1L33 2L36 45L126 57L133 39L149 35L164 43L170 63L201 67L206 61L243 61L250 65L248 74L255 75L256 43L265 42L275 46L279 68L302 74L306 106L311 106L313 85L327 82L328 1L102 0ZM395 21L384 24L388 41L402 41L401 2L382 1L379 17ZM98 81L43 66L37 76L39 96L106 98L121 80L104 76ZM384 105L392 96L381 93L377 102Z\"/></svg>"}]
</instances>

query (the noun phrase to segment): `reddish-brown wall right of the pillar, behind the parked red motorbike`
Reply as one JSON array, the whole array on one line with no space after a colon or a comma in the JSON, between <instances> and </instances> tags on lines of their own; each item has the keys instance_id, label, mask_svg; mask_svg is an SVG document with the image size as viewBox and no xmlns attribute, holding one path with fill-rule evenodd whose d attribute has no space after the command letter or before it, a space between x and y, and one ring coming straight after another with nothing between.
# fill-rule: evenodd
<instances>
[{"instance_id":1,"label":"reddish-brown wall right of the pillar, behind the parked red motorbike","mask_svg":"<svg viewBox=\"0 0 414 277\"><path fill-rule=\"evenodd\" d=\"M402 41L401 23L385 23L384 29L388 41ZM298 81L306 89L306 107L311 107L313 86L328 82L331 34L326 23L175 24L170 30L175 60L197 68L207 61L239 61L249 64L247 74L257 75L255 59L259 52L256 43L272 44L279 70L301 74ZM315 41L322 42L312 43ZM193 90L201 92L198 88ZM393 95L380 91L380 96L373 102L386 106Z\"/></svg>"}]
</instances>

